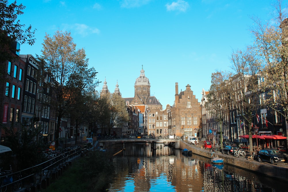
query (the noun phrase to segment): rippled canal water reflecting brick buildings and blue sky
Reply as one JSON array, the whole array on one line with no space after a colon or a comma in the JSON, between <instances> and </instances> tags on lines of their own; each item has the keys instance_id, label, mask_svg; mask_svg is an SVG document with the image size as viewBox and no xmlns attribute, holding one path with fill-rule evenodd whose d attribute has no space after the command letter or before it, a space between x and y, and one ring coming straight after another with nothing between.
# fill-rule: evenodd
<instances>
[{"instance_id":1,"label":"rippled canal water reflecting brick buildings and blue sky","mask_svg":"<svg viewBox=\"0 0 288 192\"><path fill-rule=\"evenodd\" d=\"M210 159L182 155L181 150L149 143L125 143L115 156L115 176L109 192L287 192L288 182L233 166L215 165Z\"/></svg>"}]
</instances>

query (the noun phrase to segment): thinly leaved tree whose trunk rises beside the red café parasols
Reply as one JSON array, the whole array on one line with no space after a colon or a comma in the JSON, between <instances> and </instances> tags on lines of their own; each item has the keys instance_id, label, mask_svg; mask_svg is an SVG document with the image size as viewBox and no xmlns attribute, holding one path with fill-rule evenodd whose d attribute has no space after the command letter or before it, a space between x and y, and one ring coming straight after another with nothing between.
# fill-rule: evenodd
<instances>
[{"instance_id":1,"label":"thinly leaved tree whose trunk rises beside the red caf\u00e9 parasols","mask_svg":"<svg viewBox=\"0 0 288 192\"><path fill-rule=\"evenodd\" d=\"M249 144L252 146L252 123L256 116L254 112L259 107L258 74L262 66L250 46L244 51L233 51L230 60L232 77L229 78L229 96L226 98L230 102L230 110L236 110L244 119L243 126L248 128ZM250 147L251 154L252 150Z\"/></svg>"}]
</instances>

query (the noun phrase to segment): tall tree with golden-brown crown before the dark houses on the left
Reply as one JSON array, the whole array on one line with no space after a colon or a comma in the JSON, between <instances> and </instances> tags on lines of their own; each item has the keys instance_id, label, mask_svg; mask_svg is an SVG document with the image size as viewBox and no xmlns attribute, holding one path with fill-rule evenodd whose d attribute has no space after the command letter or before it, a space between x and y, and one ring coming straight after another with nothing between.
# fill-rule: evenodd
<instances>
[{"instance_id":1,"label":"tall tree with golden-brown crown before the dark houses on the left","mask_svg":"<svg viewBox=\"0 0 288 192\"><path fill-rule=\"evenodd\" d=\"M51 108L56 110L57 116L55 143L58 147L62 117L68 116L71 109L77 109L79 95L94 89L99 81L95 69L88 69L85 50L76 50L71 33L56 31L53 37L46 34L42 45L41 59L45 70L52 76L48 86L51 86L53 95Z\"/></svg>"}]
</instances>

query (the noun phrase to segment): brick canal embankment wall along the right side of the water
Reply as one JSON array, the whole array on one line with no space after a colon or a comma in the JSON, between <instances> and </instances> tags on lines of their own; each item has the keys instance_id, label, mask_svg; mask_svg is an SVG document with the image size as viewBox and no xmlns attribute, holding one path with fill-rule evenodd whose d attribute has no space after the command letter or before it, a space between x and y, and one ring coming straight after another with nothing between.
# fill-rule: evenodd
<instances>
[{"instance_id":1,"label":"brick canal embankment wall along the right side of the water","mask_svg":"<svg viewBox=\"0 0 288 192\"><path fill-rule=\"evenodd\" d=\"M209 149L203 149L203 142L199 142L199 145L191 145L186 141L180 141L180 149L188 149L193 154L200 155L202 157L211 158L211 152ZM288 164L270 164L267 162L258 162L246 157L235 157L234 155L222 154L220 151L213 152L213 157L217 156L224 159L225 164L235 166L241 169L249 170L252 172L261 173L263 175L277 177L288 180Z\"/></svg>"}]
</instances>

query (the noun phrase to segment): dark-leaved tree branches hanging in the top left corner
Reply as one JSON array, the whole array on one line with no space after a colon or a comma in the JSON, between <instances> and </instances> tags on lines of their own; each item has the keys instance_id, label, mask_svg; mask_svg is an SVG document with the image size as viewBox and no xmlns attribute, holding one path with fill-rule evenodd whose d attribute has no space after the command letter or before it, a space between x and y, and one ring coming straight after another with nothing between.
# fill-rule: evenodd
<instances>
[{"instance_id":1,"label":"dark-leaved tree branches hanging in the top left corner","mask_svg":"<svg viewBox=\"0 0 288 192\"><path fill-rule=\"evenodd\" d=\"M29 43L29 45L35 43L34 33L36 29L32 30L31 25L24 29L25 25L17 20L19 15L24 14L23 10L25 8L22 3L16 5L16 1L11 4L8 0L0 1L0 63L16 59L12 54L12 52L16 52L16 49L12 46L14 41L19 41L21 44ZM5 65L0 65L0 79L5 78L4 67Z\"/></svg>"}]
</instances>

